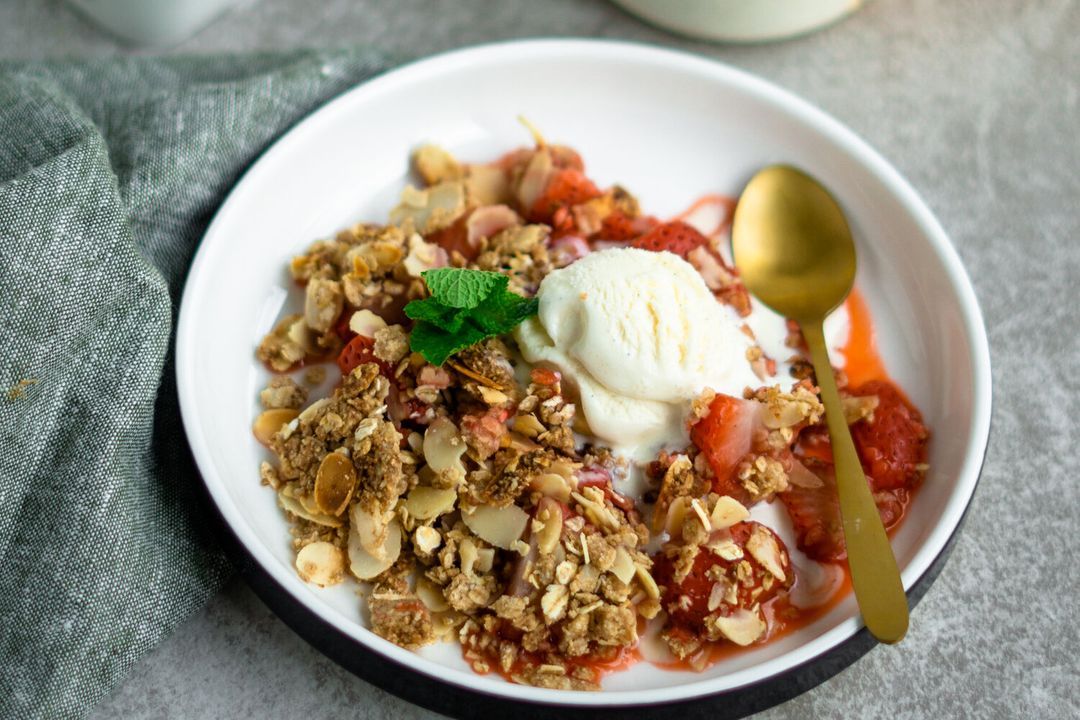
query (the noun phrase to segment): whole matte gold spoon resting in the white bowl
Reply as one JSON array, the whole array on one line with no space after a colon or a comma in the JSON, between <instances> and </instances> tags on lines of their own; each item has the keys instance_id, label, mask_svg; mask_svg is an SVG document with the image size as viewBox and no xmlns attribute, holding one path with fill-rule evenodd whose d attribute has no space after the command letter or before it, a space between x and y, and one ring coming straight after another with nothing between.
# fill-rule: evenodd
<instances>
[{"instance_id":1,"label":"whole matte gold spoon resting in the white bowl","mask_svg":"<svg viewBox=\"0 0 1080 720\"><path fill-rule=\"evenodd\" d=\"M907 598L843 418L822 329L825 316L843 302L855 280L851 230L816 180L794 167L773 165L743 190L731 245L746 288L802 328L833 443L855 599L870 634L881 642L897 642L907 631Z\"/></svg>"}]
</instances>

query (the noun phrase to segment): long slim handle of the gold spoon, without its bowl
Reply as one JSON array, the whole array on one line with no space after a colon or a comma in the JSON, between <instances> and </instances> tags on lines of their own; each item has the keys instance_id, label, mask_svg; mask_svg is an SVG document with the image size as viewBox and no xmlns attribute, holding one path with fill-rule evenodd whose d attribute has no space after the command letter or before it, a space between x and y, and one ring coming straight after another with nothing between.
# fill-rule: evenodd
<instances>
[{"instance_id":1,"label":"long slim handle of the gold spoon, without its bowl","mask_svg":"<svg viewBox=\"0 0 1080 720\"><path fill-rule=\"evenodd\" d=\"M907 597L900 580L896 558L881 516L870 495L863 466L855 453L851 431L843 417L836 378L825 349L821 321L800 323L813 361L821 400L825 405L825 421L833 444L836 487L840 497L843 539L848 546L851 584L870 635L881 642L899 642L907 633Z\"/></svg>"}]
</instances>

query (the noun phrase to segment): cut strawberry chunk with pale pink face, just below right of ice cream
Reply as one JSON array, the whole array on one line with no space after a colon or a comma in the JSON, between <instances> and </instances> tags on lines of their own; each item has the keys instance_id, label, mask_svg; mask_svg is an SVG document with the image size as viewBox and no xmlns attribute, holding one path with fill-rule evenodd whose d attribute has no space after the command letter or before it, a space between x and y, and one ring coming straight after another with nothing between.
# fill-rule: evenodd
<instances>
[{"instance_id":1,"label":"cut strawberry chunk with pale pink face, just below right of ice cream","mask_svg":"<svg viewBox=\"0 0 1080 720\"><path fill-rule=\"evenodd\" d=\"M705 456L713 471L713 491L739 502L750 500L739 485L735 468L753 446L757 411L752 400L717 393L708 415L690 426L690 439Z\"/></svg>"}]
</instances>

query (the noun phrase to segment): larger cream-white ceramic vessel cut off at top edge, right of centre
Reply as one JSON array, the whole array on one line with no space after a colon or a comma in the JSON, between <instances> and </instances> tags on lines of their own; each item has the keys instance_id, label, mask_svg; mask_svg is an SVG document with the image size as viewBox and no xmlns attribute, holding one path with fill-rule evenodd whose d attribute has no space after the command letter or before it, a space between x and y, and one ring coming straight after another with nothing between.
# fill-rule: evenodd
<instances>
[{"instance_id":1,"label":"larger cream-white ceramic vessel cut off at top edge, right of centre","mask_svg":"<svg viewBox=\"0 0 1080 720\"><path fill-rule=\"evenodd\" d=\"M705 40L759 42L810 32L864 0L613 0L653 25Z\"/></svg>"}]
</instances>

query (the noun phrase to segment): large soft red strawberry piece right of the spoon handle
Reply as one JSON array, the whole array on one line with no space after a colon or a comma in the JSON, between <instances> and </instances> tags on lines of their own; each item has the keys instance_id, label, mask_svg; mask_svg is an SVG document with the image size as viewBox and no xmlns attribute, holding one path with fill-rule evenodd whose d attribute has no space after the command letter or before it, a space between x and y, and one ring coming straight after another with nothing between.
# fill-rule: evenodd
<instances>
[{"instance_id":1,"label":"large soft red strawberry piece right of the spoon handle","mask_svg":"<svg viewBox=\"0 0 1080 720\"><path fill-rule=\"evenodd\" d=\"M918 466L926 462L930 434L922 416L894 384L872 380L852 391L852 395L877 395L873 420L851 426L855 449L863 470L876 491L912 488L919 479Z\"/></svg>"}]
</instances>

